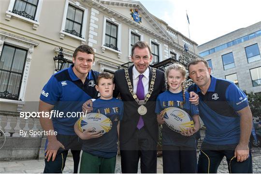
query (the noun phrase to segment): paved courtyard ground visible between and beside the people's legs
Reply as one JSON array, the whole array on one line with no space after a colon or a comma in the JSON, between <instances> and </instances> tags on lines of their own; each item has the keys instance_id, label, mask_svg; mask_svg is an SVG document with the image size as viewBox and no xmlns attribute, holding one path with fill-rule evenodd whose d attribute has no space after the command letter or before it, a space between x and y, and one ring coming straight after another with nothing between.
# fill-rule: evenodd
<instances>
[{"instance_id":1,"label":"paved courtyard ground visible between and beside the people's legs","mask_svg":"<svg viewBox=\"0 0 261 174\"><path fill-rule=\"evenodd\" d=\"M261 174L261 149L252 149L253 155L253 173ZM14 161L0 161L0 173L43 173L44 160L14 160ZM73 172L73 158L68 157L66 160L63 173ZM158 157L157 173L162 173L162 157ZM224 158L221 162L218 173L228 173L227 162ZM120 156L116 160L116 173L121 173ZM140 169L138 171L140 173Z\"/></svg>"}]
</instances>

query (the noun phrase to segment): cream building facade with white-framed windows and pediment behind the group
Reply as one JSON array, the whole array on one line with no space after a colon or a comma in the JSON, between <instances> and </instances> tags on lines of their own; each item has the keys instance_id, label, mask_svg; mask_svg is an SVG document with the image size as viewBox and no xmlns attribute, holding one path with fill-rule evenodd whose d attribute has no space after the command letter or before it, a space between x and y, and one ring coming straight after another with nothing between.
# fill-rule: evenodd
<instances>
[{"instance_id":1,"label":"cream building facade with white-framed windows and pediment behind the group","mask_svg":"<svg viewBox=\"0 0 261 174\"><path fill-rule=\"evenodd\" d=\"M131 45L138 40L152 47L152 64L171 57L178 60L184 44L190 57L199 57L194 41L153 16L139 1L1 1L0 129L9 137L9 146L3 147L0 159L38 156L42 137L22 138L19 130L40 131L39 120L20 118L19 112L38 110L43 85L55 73L53 58L59 47L67 59L64 68L72 63L74 49L87 44L96 52L93 69L114 73L128 66ZM19 156L23 152L19 146L30 147L26 148L29 155Z\"/></svg>"}]
</instances>

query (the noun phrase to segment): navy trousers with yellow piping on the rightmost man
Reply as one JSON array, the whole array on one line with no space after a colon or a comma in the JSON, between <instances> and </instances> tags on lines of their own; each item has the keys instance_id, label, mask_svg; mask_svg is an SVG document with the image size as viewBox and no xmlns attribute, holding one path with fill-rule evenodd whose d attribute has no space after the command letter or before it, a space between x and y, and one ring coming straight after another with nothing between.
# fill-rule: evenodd
<instances>
[{"instance_id":1,"label":"navy trousers with yellow piping on the rightmost man","mask_svg":"<svg viewBox=\"0 0 261 174\"><path fill-rule=\"evenodd\" d=\"M236 144L212 146L207 143L202 144L199 154L198 173L217 173L217 168L224 158L227 159L229 173L253 173L251 152L249 157L243 162L237 162L234 158Z\"/></svg>"}]
</instances>

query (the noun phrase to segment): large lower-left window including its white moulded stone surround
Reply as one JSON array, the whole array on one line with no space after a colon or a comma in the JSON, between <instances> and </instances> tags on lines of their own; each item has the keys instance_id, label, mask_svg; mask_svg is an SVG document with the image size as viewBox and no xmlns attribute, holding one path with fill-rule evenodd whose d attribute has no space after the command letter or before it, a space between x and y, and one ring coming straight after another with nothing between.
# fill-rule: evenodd
<instances>
[{"instance_id":1,"label":"large lower-left window including its white moulded stone surround","mask_svg":"<svg viewBox=\"0 0 261 174\"><path fill-rule=\"evenodd\" d=\"M8 96L1 96L1 98L9 98L2 99L2 101L9 102L10 100L17 99L17 97L12 95L14 93L14 95L18 96L19 100L24 101L33 50L34 47L39 45L39 42L0 31L0 43L3 43L0 45L0 85L5 85L1 87L1 90L7 89L9 92L10 90L12 92L10 92L11 95L0 93L0 95ZM4 74L5 76L9 76L9 82L7 81L7 77L4 77ZM18 80L20 80L19 84ZM13 97L15 99L12 99Z\"/></svg>"}]
</instances>

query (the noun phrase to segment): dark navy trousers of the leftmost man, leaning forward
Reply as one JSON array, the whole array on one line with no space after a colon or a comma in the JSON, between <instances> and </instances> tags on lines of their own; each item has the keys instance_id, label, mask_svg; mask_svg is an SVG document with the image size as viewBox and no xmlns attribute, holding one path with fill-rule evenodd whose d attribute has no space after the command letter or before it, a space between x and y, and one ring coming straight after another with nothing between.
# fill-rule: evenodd
<instances>
[{"instance_id":1,"label":"dark navy trousers of the leftmost man, leaning forward","mask_svg":"<svg viewBox=\"0 0 261 174\"><path fill-rule=\"evenodd\" d=\"M54 161L52 161L52 158L49 160L49 162L47 161L47 159L44 159L45 167L43 173L62 173L65 167L65 161L68 155L68 150L71 149L71 152L73 154L73 173L76 174L78 171L78 165L80 161L82 142L79 140L77 135L58 134L56 137L57 140L64 145L65 150L60 148L57 152ZM48 141L46 141L46 145L47 143Z\"/></svg>"}]
</instances>

